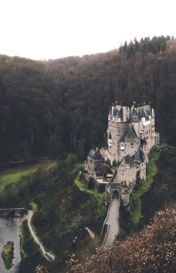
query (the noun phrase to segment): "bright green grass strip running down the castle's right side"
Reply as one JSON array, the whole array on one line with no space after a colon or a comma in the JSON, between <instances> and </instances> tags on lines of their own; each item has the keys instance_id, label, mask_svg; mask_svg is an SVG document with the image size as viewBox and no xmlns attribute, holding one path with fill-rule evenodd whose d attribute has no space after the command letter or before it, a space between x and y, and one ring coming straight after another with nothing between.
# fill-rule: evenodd
<instances>
[{"instance_id":1,"label":"bright green grass strip running down the castle's right side","mask_svg":"<svg viewBox=\"0 0 176 273\"><path fill-rule=\"evenodd\" d=\"M132 222L134 225L139 223L140 218L142 217L142 202L141 197L146 192L149 191L151 184L153 182L153 177L157 173L157 167L155 161L158 160L161 151L153 151L152 157L149 159L149 164L147 165L147 174L146 182L144 182L139 190L134 193L132 199L135 202L135 208L132 212Z\"/></svg>"}]
</instances>

